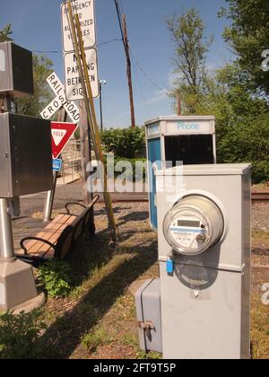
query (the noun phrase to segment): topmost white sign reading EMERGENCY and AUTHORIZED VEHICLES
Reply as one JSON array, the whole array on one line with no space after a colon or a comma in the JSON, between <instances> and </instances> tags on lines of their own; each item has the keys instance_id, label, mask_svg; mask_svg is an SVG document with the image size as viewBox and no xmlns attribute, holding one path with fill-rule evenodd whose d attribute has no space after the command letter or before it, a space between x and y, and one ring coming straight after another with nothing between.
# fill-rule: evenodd
<instances>
[{"instance_id":1,"label":"topmost white sign reading EMERGENCY and AUTHORIZED VEHICLES","mask_svg":"<svg viewBox=\"0 0 269 377\"><path fill-rule=\"evenodd\" d=\"M71 2L73 13L79 16L84 48L96 45L94 0L74 0ZM61 5L63 45L65 52L74 51L71 28L68 20L67 5Z\"/></svg>"}]
</instances>

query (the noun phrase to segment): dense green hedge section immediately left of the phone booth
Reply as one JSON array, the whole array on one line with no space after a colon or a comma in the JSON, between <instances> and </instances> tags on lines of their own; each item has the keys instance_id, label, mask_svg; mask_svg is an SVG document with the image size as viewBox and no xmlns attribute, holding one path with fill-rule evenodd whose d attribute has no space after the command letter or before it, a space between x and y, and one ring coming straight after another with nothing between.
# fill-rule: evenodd
<instances>
[{"instance_id":1,"label":"dense green hedge section immediately left of the phone booth","mask_svg":"<svg viewBox=\"0 0 269 377\"><path fill-rule=\"evenodd\" d=\"M111 128L101 134L105 152L114 153L117 157L133 159L144 157L145 136L140 127Z\"/></svg>"}]
</instances>

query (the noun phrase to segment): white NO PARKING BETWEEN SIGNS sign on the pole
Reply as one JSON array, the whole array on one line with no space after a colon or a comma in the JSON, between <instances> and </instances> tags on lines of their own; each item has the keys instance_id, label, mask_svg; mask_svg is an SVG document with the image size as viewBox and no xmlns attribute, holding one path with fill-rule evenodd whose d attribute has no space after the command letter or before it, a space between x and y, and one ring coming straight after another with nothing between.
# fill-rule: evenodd
<instances>
[{"instance_id":1,"label":"white NO PARKING BETWEEN SIGNS sign on the pole","mask_svg":"<svg viewBox=\"0 0 269 377\"><path fill-rule=\"evenodd\" d=\"M97 51L95 48L85 50L86 62L91 83L92 97L99 96L100 85L98 76ZM65 54L65 92L66 99L77 101L83 99L79 67L74 53Z\"/></svg>"}]
</instances>

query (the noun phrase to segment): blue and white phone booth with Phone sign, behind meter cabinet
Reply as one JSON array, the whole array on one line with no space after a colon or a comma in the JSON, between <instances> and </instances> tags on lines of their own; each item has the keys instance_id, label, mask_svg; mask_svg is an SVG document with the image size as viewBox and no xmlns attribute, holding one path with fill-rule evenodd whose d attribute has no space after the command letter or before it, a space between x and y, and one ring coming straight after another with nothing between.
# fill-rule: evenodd
<instances>
[{"instance_id":1,"label":"blue and white phone booth with Phone sign, behind meter cabinet","mask_svg":"<svg viewBox=\"0 0 269 377\"><path fill-rule=\"evenodd\" d=\"M170 116L145 123L148 159L150 220L157 229L156 180L154 170L184 165L216 163L215 118ZM169 162L169 165L167 165Z\"/></svg>"}]
</instances>

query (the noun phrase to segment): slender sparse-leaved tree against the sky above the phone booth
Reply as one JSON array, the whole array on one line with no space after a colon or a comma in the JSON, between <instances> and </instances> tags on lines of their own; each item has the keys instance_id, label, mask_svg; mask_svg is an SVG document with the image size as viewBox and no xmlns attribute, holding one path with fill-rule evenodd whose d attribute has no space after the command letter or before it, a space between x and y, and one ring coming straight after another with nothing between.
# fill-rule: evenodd
<instances>
[{"instance_id":1,"label":"slender sparse-leaved tree against the sky above the phone booth","mask_svg":"<svg viewBox=\"0 0 269 377\"><path fill-rule=\"evenodd\" d=\"M204 22L195 8L167 18L166 23L176 48L173 65L178 75L170 96L176 98L180 92L185 111L195 113L208 90L206 55L213 38L204 36Z\"/></svg>"}]
</instances>

